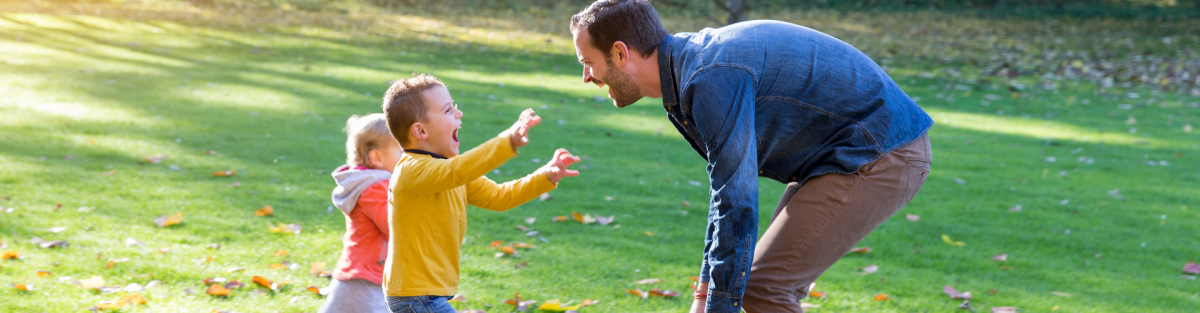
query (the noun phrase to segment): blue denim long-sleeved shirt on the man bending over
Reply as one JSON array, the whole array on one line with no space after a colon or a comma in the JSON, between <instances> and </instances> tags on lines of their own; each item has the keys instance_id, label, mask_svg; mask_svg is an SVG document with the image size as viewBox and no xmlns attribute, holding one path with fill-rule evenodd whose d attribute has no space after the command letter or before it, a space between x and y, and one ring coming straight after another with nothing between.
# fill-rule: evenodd
<instances>
[{"instance_id":1,"label":"blue denim long-sleeved shirt on the man bending over","mask_svg":"<svg viewBox=\"0 0 1200 313\"><path fill-rule=\"evenodd\" d=\"M932 125L850 44L804 26L754 20L667 36L662 106L708 161L712 197L701 282L708 312L739 312L758 231L758 180L851 174ZM804 255L798 255L804 258Z\"/></svg>"}]
</instances>

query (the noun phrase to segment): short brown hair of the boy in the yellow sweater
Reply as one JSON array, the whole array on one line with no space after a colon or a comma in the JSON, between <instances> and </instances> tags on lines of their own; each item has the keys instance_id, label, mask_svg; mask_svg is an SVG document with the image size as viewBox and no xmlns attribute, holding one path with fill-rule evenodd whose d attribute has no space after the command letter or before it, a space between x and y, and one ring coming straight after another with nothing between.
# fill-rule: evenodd
<instances>
[{"instance_id":1,"label":"short brown hair of the boy in the yellow sweater","mask_svg":"<svg viewBox=\"0 0 1200 313\"><path fill-rule=\"evenodd\" d=\"M440 79L430 74L413 74L409 79L397 79L383 95L383 113L388 116L388 130L401 146L412 145L408 142L408 128L425 120L425 97L421 92L434 86L445 86Z\"/></svg>"}]
</instances>

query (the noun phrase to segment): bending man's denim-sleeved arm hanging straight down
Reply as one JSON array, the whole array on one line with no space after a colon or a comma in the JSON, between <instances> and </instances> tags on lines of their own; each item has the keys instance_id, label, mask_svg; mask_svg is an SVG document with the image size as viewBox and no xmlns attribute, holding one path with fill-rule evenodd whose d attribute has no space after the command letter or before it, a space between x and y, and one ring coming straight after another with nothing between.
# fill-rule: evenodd
<instances>
[{"instance_id":1,"label":"bending man's denim-sleeved arm hanging straight down","mask_svg":"<svg viewBox=\"0 0 1200 313\"><path fill-rule=\"evenodd\" d=\"M740 312L758 235L758 146L754 77L719 67L689 85L692 119L708 150L710 203L701 282L707 312Z\"/></svg>"}]
</instances>

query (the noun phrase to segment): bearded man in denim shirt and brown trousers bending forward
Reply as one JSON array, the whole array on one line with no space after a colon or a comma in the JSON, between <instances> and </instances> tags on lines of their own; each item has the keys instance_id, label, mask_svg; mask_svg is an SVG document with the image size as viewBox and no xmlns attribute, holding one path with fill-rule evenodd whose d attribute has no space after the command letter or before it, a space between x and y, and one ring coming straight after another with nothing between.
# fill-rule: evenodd
<instances>
[{"instance_id":1,"label":"bearded man in denim shirt and brown trousers bending forward","mask_svg":"<svg viewBox=\"0 0 1200 313\"><path fill-rule=\"evenodd\" d=\"M806 288L925 183L932 120L834 37L770 20L672 36L647 0L595 1L571 35L584 83L618 108L661 97L708 161L692 312L803 312ZM757 176L787 183L758 241Z\"/></svg>"}]
</instances>

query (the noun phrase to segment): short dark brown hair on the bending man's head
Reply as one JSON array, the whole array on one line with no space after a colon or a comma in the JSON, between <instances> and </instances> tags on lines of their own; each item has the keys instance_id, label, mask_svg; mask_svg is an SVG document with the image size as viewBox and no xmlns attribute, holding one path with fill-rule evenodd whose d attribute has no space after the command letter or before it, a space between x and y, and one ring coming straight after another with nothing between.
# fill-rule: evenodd
<instances>
[{"instance_id":1,"label":"short dark brown hair on the bending man's head","mask_svg":"<svg viewBox=\"0 0 1200 313\"><path fill-rule=\"evenodd\" d=\"M596 0L571 17L571 32L588 30L592 46L612 56L612 44L620 41L643 58L670 36L649 0Z\"/></svg>"}]
</instances>

